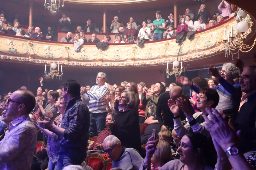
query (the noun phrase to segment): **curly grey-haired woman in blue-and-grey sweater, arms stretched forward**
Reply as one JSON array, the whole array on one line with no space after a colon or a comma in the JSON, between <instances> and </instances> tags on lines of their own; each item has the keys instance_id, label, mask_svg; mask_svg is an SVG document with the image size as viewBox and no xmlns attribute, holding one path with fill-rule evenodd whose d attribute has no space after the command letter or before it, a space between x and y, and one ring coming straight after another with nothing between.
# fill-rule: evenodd
<instances>
[{"instance_id":1,"label":"curly grey-haired woman in blue-and-grey sweater, arms stretched forward","mask_svg":"<svg viewBox=\"0 0 256 170\"><path fill-rule=\"evenodd\" d=\"M216 67L209 67L208 74L214 76L220 83L212 87L219 94L219 104L216 109L223 110L224 114L235 119L242 96L240 84L234 82L234 79L239 78L239 69L232 63L225 63L220 74ZM193 85L187 77L178 77L176 81L182 85L189 85L192 90L199 93L200 88Z\"/></svg>"}]
</instances>

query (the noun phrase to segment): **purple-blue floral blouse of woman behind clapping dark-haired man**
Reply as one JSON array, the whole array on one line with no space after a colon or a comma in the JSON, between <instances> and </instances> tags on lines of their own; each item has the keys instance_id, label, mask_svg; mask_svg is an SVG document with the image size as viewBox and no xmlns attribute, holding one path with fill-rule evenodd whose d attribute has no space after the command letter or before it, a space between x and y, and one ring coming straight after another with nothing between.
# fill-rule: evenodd
<instances>
[{"instance_id":1,"label":"purple-blue floral blouse of woman behind clapping dark-haired man","mask_svg":"<svg viewBox=\"0 0 256 170\"><path fill-rule=\"evenodd\" d=\"M57 126L60 126L62 121L62 115L60 114L59 116L57 116L54 119L54 121L57 123ZM52 163L57 162L57 157L59 155L59 150L60 150L59 141L60 141L60 137L55 133L52 133L51 136L48 136L46 150L47 150L49 160Z\"/></svg>"}]
</instances>

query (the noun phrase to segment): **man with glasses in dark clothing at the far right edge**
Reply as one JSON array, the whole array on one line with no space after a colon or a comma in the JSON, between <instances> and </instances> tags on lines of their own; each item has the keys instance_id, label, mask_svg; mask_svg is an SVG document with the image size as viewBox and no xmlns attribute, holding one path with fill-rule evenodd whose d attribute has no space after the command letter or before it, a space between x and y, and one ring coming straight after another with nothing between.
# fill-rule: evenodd
<instances>
[{"instance_id":1,"label":"man with glasses in dark clothing at the far right edge","mask_svg":"<svg viewBox=\"0 0 256 170\"><path fill-rule=\"evenodd\" d=\"M245 67L239 83L242 92L248 95L248 101L240 108L234 127L241 130L239 151L245 153L256 150L256 66Z\"/></svg>"}]
</instances>

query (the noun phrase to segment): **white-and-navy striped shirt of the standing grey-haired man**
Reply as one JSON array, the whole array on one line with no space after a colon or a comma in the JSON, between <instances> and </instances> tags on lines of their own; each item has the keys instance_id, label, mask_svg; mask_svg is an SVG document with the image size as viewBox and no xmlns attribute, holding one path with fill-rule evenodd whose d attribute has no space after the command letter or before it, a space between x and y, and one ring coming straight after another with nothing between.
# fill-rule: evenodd
<instances>
[{"instance_id":1,"label":"white-and-navy striped shirt of the standing grey-haired man","mask_svg":"<svg viewBox=\"0 0 256 170\"><path fill-rule=\"evenodd\" d=\"M104 113L106 112L107 105L104 101L106 95L109 95L110 90L107 85L101 87L94 85L91 90L87 92L90 97L89 111L92 113Z\"/></svg>"}]
</instances>

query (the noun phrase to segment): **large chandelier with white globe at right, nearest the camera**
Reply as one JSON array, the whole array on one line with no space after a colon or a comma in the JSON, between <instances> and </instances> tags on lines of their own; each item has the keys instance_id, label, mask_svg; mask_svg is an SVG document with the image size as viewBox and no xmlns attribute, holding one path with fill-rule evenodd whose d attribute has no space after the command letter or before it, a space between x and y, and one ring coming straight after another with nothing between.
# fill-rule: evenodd
<instances>
[{"instance_id":1,"label":"large chandelier with white globe at right, nearest the camera","mask_svg":"<svg viewBox=\"0 0 256 170\"><path fill-rule=\"evenodd\" d=\"M244 53L249 52L254 48L254 45L256 43L256 38L254 40L253 45L249 46L244 44L244 33L248 30L249 25L245 21L240 21L236 25L236 30L238 32L237 35L234 35L234 30L233 30L233 25L231 25L231 34L229 35L229 30L228 30L228 38L226 37L226 28L224 28L224 50L225 50L225 57L228 57L228 55L232 55L232 60L234 59L233 55L238 54L239 58L239 51L242 51ZM236 51L236 49L238 49ZM246 49L248 49L246 51Z\"/></svg>"}]
</instances>

